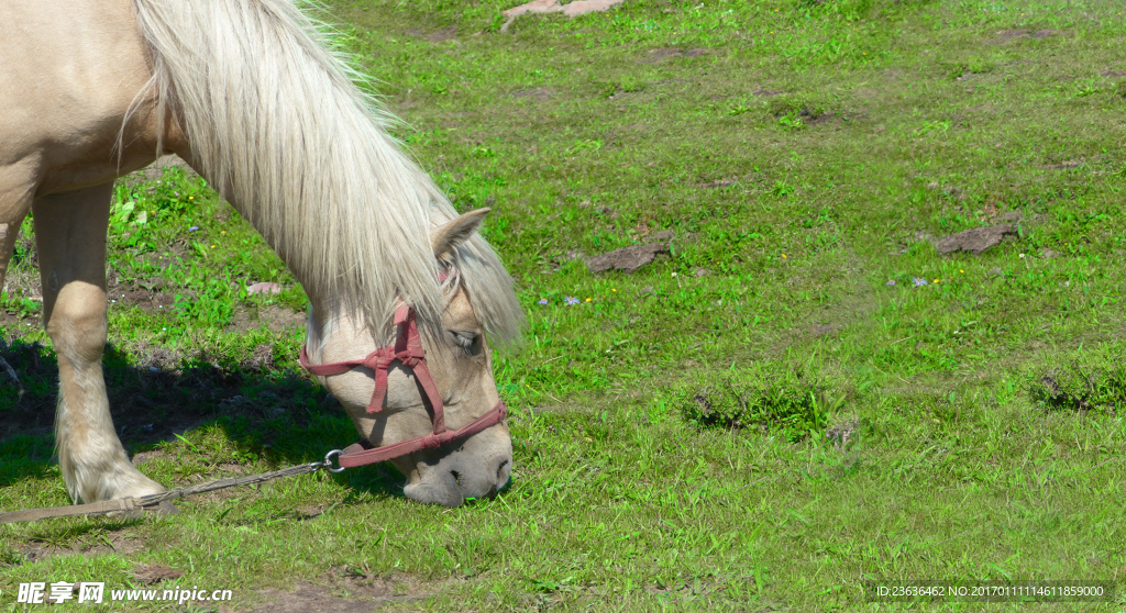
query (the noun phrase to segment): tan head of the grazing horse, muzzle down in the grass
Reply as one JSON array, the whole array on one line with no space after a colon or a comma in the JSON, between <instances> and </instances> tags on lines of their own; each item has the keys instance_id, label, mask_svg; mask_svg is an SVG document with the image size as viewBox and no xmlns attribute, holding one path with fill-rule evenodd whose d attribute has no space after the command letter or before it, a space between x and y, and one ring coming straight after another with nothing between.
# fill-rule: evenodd
<instances>
[{"instance_id":1,"label":"tan head of the grazing horse, muzzle down in the grass","mask_svg":"<svg viewBox=\"0 0 1126 613\"><path fill-rule=\"evenodd\" d=\"M435 228L431 244L438 262L456 262L457 249L488 213L474 210ZM458 274L456 263L445 269L445 308L437 333L411 333L413 321L401 316L390 336L392 342L379 342L383 339L377 341L378 335L360 317L330 308L323 315L316 309L311 313L306 337L311 370L343 405L365 447L385 449L422 441L438 433L443 418L445 431L456 433L494 416L486 424L495 423L480 432L391 458L408 478L408 498L445 506L492 496L508 483L512 469L512 442L508 426L500 421L503 404L492 376L484 325L474 312L473 296L457 282ZM403 313L408 313L405 305L400 309ZM425 355L422 360L405 350L408 335L421 345L417 353ZM368 358L356 360L364 355ZM333 369L324 364L348 366L325 375Z\"/></svg>"}]
</instances>

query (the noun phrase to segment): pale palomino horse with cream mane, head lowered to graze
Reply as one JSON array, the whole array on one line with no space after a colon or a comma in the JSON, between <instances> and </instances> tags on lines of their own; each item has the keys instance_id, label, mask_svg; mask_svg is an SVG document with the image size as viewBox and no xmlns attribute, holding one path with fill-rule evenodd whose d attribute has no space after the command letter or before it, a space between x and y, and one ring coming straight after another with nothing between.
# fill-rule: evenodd
<instances>
[{"instance_id":1,"label":"pale palomino horse with cream mane, head lowered to graze","mask_svg":"<svg viewBox=\"0 0 1126 613\"><path fill-rule=\"evenodd\" d=\"M392 460L409 498L453 506L508 481L485 334L515 340L522 312L476 232L486 210L456 215L294 1L0 2L0 286L32 210L59 355L59 465L74 501L163 490L116 435L101 353L113 181L166 153L223 195L304 287L302 361L360 435L425 440ZM365 361L408 327L429 376L409 358ZM436 448L428 434L443 406L452 431L498 416Z\"/></svg>"}]
</instances>

